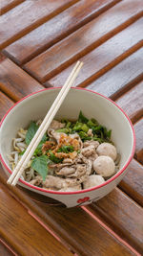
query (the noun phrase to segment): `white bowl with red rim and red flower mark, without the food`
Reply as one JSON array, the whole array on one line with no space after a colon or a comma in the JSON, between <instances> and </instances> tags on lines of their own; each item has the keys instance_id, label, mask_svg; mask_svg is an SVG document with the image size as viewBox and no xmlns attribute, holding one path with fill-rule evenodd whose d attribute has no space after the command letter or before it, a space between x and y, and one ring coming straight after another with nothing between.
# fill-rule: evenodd
<instances>
[{"instance_id":1,"label":"white bowl with red rim and red flower mark, without the food","mask_svg":"<svg viewBox=\"0 0 143 256\"><path fill-rule=\"evenodd\" d=\"M7 155L10 154L12 138L19 128L27 128L31 120L45 117L59 90L60 88L50 88L32 93L13 105L4 116L0 128L0 159L7 175L11 174ZM129 117L105 96L87 89L72 88L55 119L77 119L80 110L85 116L95 118L101 125L112 129L112 141L121 155L118 173L99 186L77 192L49 191L19 179L18 184L26 188L30 197L32 194L34 198L44 198L44 201L52 198L67 207L88 204L109 194L126 174L135 149L133 125Z\"/></svg>"}]
</instances>

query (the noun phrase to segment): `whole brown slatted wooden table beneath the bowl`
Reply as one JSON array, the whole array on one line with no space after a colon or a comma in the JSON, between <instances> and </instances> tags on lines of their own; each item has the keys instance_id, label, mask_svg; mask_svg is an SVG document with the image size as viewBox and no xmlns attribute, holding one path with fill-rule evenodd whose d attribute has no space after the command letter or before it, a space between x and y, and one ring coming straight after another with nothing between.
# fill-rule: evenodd
<instances>
[{"instance_id":1,"label":"whole brown slatted wooden table beneath the bowl","mask_svg":"<svg viewBox=\"0 0 143 256\"><path fill-rule=\"evenodd\" d=\"M0 255L122 256L143 253L143 1L1 0L0 117L16 101L62 85L100 92L130 116L136 151L107 197L72 209L9 188L0 168Z\"/></svg>"}]
</instances>

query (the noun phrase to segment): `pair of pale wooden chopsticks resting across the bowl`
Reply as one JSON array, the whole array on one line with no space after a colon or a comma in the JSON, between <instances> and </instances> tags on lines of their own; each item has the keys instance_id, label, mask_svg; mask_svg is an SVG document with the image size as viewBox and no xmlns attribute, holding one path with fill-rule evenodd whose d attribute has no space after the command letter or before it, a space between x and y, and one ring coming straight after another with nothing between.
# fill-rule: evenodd
<instances>
[{"instance_id":1,"label":"pair of pale wooden chopsticks resting across the bowl","mask_svg":"<svg viewBox=\"0 0 143 256\"><path fill-rule=\"evenodd\" d=\"M81 67L83 65L83 62L77 61L76 65L72 69L72 73L70 74L69 78L63 85L62 89L60 90L59 94L57 95L56 99L54 100L53 104L51 105L50 110L48 111L47 115L45 116L42 124L36 131L34 137L31 140L31 143L23 156L21 157L20 161L18 162L16 168L10 175L7 183L11 184L12 186L15 186L18 179L22 175L23 171L27 167L31 156L37 146L39 145L43 135L45 134L46 130L49 128L51 125L51 121L53 117L55 116L56 112L58 111L59 107L62 105L63 101L65 100L73 81L76 79Z\"/></svg>"}]
</instances>

